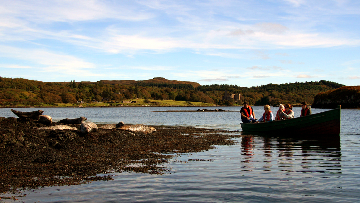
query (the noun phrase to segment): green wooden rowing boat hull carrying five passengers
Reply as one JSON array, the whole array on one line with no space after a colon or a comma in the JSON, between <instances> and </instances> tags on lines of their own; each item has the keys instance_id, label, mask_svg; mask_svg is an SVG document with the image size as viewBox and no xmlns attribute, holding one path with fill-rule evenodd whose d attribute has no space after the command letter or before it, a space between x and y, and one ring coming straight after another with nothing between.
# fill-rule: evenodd
<instances>
[{"instance_id":1,"label":"green wooden rowing boat hull carrying five passengers","mask_svg":"<svg viewBox=\"0 0 360 203\"><path fill-rule=\"evenodd\" d=\"M271 121L241 123L244 134L329 136L340 135L341 107L309 116Z\"/></svg>"}]
</instances>

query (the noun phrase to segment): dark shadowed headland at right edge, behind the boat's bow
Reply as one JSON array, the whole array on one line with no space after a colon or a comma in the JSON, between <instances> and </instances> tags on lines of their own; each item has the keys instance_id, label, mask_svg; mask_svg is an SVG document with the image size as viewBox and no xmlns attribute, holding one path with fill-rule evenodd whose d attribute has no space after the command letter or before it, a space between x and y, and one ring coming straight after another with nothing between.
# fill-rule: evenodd
<instances>
[{"instance_id":1,"label":"dark shadowed headland at right edge, behind the boat's bow","mask_svg":"<svg viewBox=\"0 0 360 203\"><path fill-rule=\"evenodd\" d=\"M360 108L360 86L343 86L336 90L319 93L311 108Z\"/></svg>"}]
</instances>

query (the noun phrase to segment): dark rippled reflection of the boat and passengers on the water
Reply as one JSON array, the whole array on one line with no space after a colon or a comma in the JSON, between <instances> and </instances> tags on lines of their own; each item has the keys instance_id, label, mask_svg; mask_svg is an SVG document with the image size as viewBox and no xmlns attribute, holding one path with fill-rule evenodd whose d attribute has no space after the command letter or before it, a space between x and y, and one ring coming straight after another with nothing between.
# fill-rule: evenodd
<instances>
[{"instance_id":1,"label":"dark rippled reflection of the boat and passengers on the water","mask_svg":"<svg viewBox=\"0 0 360 203\"><path fill-rule=\"evenodd\" d=\"M340 137L300 140L275 136L241 138L242 168L262 162L264 171L341 173ZM257 165L257 167L259 167Z\"/></svg>"}]
</instances>

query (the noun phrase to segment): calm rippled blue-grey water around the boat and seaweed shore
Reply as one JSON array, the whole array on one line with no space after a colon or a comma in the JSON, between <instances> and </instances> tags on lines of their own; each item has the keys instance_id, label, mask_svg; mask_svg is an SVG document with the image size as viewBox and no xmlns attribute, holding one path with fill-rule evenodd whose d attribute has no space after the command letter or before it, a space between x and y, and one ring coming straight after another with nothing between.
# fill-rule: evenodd
<instances>
[{"instance_id":1,"label":"calm rippled blue-grey water around the boat and seaweed shore","mask_svg":"<svg viewBox=\"0 0 360 203\"><path fill-rule=\"evenodd\" d=\"M241 130L239 112L152 112L162 108L44 108L53 121L85 116L95 123L194 126ZM219 108L219 107L216 107ZM215 109L215 107L206 107ZM239 107L221 107L240 110ZM276 108L274 108L275 111ZM21 111L36 108L16 108ZM254 107L260 118L263 107ZM294 108L295 116L301 108ZM312 109L313 113L328 109ZM15 117L8 108L0 116ZM166 176L114 173L113 181L26 192L23 202L359 202L359 110L343 110L340 139L247 136L237 144L181 154ZM234 132L234 134L239 132ZM291 132L284 132L291 133ZM211 159L210 161L188 161ZM170 174L171 173L171 174Z\"/></svg>"}]
</instances>

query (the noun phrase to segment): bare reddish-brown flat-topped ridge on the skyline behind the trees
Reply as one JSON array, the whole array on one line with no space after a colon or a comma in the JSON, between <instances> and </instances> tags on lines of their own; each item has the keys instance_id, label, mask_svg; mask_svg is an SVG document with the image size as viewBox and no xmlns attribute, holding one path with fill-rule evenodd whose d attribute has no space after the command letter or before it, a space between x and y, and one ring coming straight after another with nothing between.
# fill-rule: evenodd
<instances>
[{"instance_id":1,"label":"bare reddish-brown flat-topped ridge on the skyline behind the trees","mask_svg":"<svg viewBox=\"0 0 360 203\"><path fill-rule=\"evenodd\" d=\"M190 81L179 81L179 80L167 80L163 77L154 77L150 80L100 80L97 82L102 82L104 85L140 85L140 84L150 84L150 83L157 83L157 84L188 84L193 85L194 88L200 86L197 82L190 82ZM70 83L70 82L63 82L64 84ZM78 83L78 82L76 82ZM95 82L89 82L89 81L82 81L82 83L86 84L95 84Z\"/></svg>"}]
</instances>

